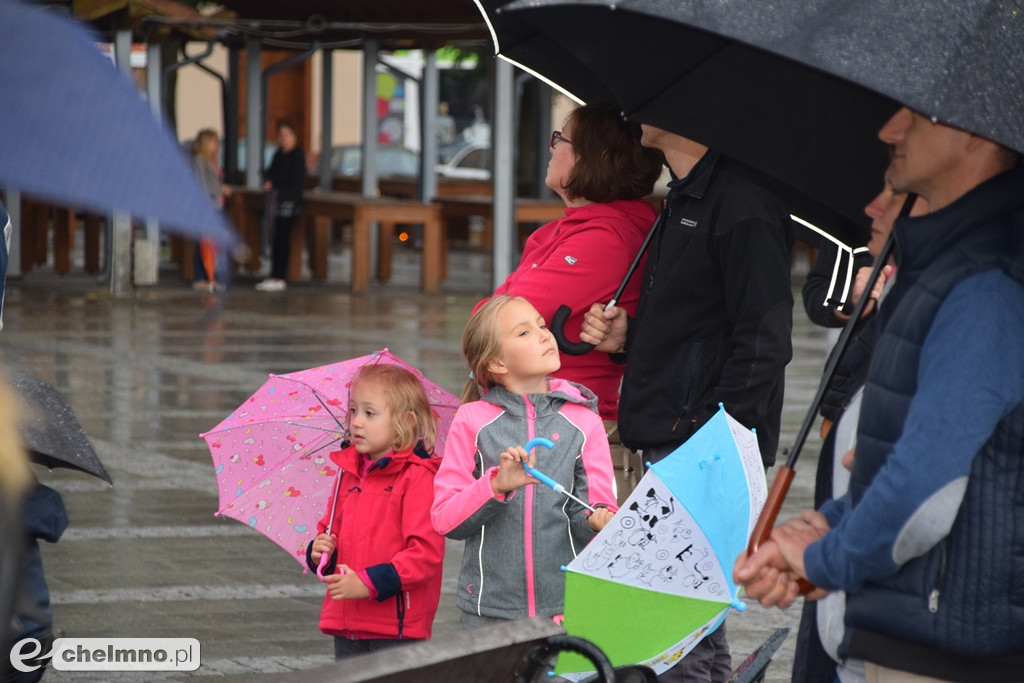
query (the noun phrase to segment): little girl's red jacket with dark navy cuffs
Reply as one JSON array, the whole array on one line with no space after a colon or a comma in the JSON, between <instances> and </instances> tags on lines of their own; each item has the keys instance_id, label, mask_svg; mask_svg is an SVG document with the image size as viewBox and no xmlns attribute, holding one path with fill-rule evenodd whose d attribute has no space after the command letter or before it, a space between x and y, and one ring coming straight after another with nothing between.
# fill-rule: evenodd
<instances>
[{"instance_id":1,"label":"little girl's red jacket with dark navy cuffs","mask_svg":"<svg viewBox=\"0 0 1024 683\"><path fill-rule=\"evenodd\" d=\"M359 458L354 447L331 454L342 471L330 532L338 536L338 563L366 570L377 597L326 596L321 631L337 636L429 638L444 559L444 538L430 522L440 459L421 457L412 450L393 453L359 477ZM316 525L318 532L327 532L330 516L328 512ZM328 569L333 573L334 565Z\"/></svg>"}]
</instances>

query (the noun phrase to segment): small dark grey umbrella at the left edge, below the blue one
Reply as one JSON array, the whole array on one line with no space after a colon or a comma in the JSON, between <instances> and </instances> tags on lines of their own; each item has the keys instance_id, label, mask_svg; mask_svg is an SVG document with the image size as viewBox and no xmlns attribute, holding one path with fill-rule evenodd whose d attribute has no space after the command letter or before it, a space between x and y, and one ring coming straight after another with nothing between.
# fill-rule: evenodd
<instances>
[{"instance_id":1,"label":"small dark grey umbrella at the left edge, below the blue one","mask_svg":"<svg viewBox=\"0 0 1024 683\"><path fill-rule=\"evenodd\" d=\"M18 426L30 460L50 469L81 470L114 483L60 392L31 375L9 369L3 372L22 404Z\"/></svg>"}]
</instances>

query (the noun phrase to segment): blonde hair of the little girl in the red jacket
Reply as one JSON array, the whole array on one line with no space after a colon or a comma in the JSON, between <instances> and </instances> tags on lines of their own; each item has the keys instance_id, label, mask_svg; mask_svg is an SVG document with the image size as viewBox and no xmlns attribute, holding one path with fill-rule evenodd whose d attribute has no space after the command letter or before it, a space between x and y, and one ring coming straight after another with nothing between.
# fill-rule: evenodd
<instances>
[{"instance_id":1,"label":"blonde hair of the little girl in the red jacket","mask_svg":"<svg viewBox=\"0 0 1024 683\"><path fill-rule=\"evenodd\" d=\"M352 388L361 382L374 382L384 391L395 433L394 451L406 451L422 440L427 453L433 453L437 422L423 383L416 375L391 364L372 364L362 366L355 374Z\"/></svg>"}]
</instances>

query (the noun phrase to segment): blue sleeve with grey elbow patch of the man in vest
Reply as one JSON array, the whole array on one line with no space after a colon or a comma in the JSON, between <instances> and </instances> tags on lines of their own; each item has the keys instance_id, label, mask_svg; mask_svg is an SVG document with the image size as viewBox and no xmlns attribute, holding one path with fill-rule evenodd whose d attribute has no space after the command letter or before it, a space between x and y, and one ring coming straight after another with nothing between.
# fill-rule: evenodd
<instances>
[{"instance_id":1,"label":"blue sleeve with grey elbow patch of the man in vest","mask_svg":"<svg viewBox=\"0 0 1024 683\"><path fill-rule=\"evenodd\" d=\"M918 391L892 456L859 504L822 507L831 526L808 546L808 579L857 592L948 535L971 462L1024 398L1024 288L1000 270L957 285L921 353Z\"/></svg>"}]
</instances>

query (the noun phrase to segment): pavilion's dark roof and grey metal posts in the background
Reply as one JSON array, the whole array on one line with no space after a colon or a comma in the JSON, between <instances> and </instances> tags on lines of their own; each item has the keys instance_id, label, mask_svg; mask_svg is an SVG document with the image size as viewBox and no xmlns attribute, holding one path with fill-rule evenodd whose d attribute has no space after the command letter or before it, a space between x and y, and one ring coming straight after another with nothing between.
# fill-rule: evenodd
<instances>
[{"instance_id":1,"label":"pavilion's dark roof and grey metal posts in the background","mask_svg":"<svg viewBox=\"0 0 1024 683\"><path fill-rule=\"evenodd\" d=\"M308 59L317 52L325 56L334 49L358 49L364 53L364 92L373 88L374 70L379 50L419 48L426 52L426 67L422 78L421 130L433 130L438 96L437 67L433 50L443 45L486 45L489 32L477 5L473 0L434 0L431 2L408 2L406 0L351 0L338 3L332 0L223 0L210 10L202 11L193 7L198 3L183 3L176 0L65 0L46 2L49 6L66 9L87 22L100 40L108 40L115 46L115 53L127 60L132 43L147 44L147 99L155 112L160 112L164 99L166 76L176 69L196 65L221 82L224 93L224 159L225 172L232 175L238 154L239 115L241 109L238 93L245 92L244 128L259 134L244 135L245 159L262 159L265 121L265 84L276 70ZM208 42L208 48L193 55L173 57L173 63L161 63L168 52L161 52L159 45L168 41L186 43ZM226 46L234 55L244 52L245 70L236 67L232 73L217 74L203 63L213 50L214 42ZM261 49L292 50L287 65L266 67L262 71L252 65L260 65ZM255 58L253 58L255 57ZM233 63L239 63L237 56ZM120 61L120 60L119 60ZM325 59L325 63L330 60ZM122 66L127 70L127 66ZM230 69L228 70L230 72ZM150 72L157 75L151 76ZM333 76L330 69L323 70L321 89L331 92ZM511 270L514 258L513 207L515 201L515 135L512 130L515 117L515 78L512 70L504 62L496 62L495 119L492 122L492 140L495 172L493 174L495 196L494 219L494 272L495 284L501 283ZM550 94L547 94L550 97ZM261 99L262 98L262 99ZM362 193L377 193L376 131L377 113L372 98L364 97L360 121L362 126L364 169ZM368 101L369 100L369 101ZM321 120L321 148L331 146L331 97L322 97L324 112ZM229 109L233 111L229 112ZM547 125L545 123L542 126ZM436 141L432 135L422 135L422 158L436 157ZM541 150L540 152L543 152ZM543 154L539 159L544 157ZM539 162L540 163L540 162ZM539 166L540 167L540 166ZM245 184L257 187L261 184L260 170L255 164L245 169ZM331 174L327 156L322 159L319 181L330 182ZM420 190L423 200L429 201L436 195L436 176L433 164L424 162L421 173ZM146 239L158 239L157 226L146 231Z\"/></svg>"}]
</instances>

